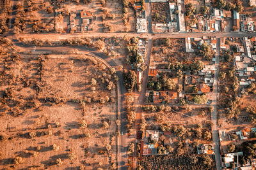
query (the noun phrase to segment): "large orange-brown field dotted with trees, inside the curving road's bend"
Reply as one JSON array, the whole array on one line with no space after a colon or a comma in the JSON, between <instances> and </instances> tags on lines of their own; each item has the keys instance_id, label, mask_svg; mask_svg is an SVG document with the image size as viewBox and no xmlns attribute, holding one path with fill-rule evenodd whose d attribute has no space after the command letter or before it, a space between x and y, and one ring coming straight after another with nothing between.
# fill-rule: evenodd
<instances>
[{"instance_id":1,"label":"large orange-brown field dotted with trees, inside the curving road's bend","mask_svg":"<svg viewBox=\"0 0 256 170\"><path fill-rule=\"evenodd\" d=\"M108 169L116 162L108 67L81 55L13 54L0 68L1 168Z\"/></svg>"}]
</instances>

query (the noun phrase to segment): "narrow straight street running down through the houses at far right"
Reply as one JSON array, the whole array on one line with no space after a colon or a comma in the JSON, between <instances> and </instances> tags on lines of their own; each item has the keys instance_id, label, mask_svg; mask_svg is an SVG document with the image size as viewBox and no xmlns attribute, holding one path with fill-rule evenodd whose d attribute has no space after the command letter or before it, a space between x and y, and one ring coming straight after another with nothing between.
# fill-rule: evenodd
<instances>
[{"instance_id":1,"label":"narrow straight street running down through the houses at far right","mask_svg":"<svg viewBox=\"0 0 256 170\"><path fill-rule=\"evenodd\" d=\"M220 55L220 38L217 38L217 49L216 49L216 55L215 55L215 68L216 71L214 73L214 84L213 84L213 92L212 92L212 103L211 106L214 107L214 110L212 111L212 141L215 148L215 162L217 170L221 169L221 158L220 158L220 138L218 133L218 118L217 118L217 95L218 95L218 75L219 75L219 55Z\"/></svg>"}]
</instances>

